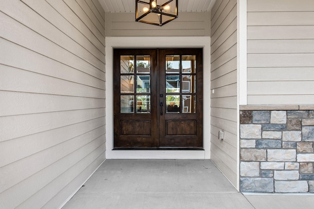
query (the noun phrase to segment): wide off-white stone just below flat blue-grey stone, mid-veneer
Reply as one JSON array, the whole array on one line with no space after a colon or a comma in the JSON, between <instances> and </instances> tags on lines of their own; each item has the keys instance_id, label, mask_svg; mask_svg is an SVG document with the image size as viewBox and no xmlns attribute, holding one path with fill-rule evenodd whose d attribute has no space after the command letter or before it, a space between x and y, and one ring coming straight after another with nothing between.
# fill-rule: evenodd
<instances>
[{"instance_id":1,"label":"wide off-white stone just below flat blue-grey stone, mid-veneer","mask_svg":"<svg viewBox=\"0 0 314 209\"><path fill-rule=\"evenodd\" d=\"M291 161L294 162L296 150L267 150L267 161Z\"/></svg>"}]
</instances>

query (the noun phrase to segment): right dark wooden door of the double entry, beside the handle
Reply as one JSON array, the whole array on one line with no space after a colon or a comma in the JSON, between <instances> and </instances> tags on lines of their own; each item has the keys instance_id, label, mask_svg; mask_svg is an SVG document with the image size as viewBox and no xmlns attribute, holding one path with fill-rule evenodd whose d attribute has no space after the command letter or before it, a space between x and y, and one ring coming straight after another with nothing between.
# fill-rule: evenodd
<instances>
[{"instance_id":1,"label":"right dark wooden door of the double entry, beside the handle","mask_svg":"<svg viewBox=\"0 0 314 209\"><path fill-rule=\"evenodd\" d=\"M160 147L203 146L202 49L159 50Z\"/></svg>"}]
</instances>

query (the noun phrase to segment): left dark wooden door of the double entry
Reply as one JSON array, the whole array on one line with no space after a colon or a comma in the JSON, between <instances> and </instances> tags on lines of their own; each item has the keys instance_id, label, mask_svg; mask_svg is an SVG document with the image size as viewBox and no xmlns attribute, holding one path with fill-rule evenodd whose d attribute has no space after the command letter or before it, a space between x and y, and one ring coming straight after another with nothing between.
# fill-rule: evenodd
<instances>
[{"instance_id":1,"label":"left dark wooden door of the double entry","mask_svg":"<svg viewBox=\"0 0 314 209\"><path fill-rule=\"evenodd\" d=\"M157 147L156 50L114 49L114 148Z\"/></svg>"}]
</instances>

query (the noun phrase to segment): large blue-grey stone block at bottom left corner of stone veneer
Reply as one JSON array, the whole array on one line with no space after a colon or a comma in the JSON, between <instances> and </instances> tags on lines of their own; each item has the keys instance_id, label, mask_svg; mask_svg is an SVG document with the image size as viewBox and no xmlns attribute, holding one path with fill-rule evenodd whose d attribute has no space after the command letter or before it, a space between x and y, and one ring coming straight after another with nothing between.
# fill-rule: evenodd
<instances>
[{"instance_id":1,"label":"large blue-grey stone block at bottom left corner of stone veneer","mask_svg":"<svg viewBox=\"0 0 314 209\"><path fill-rule=\"evenodd\" d=\"M273 192L272 178L240 178L241 192Z\"/></svg>"}]
</instances>

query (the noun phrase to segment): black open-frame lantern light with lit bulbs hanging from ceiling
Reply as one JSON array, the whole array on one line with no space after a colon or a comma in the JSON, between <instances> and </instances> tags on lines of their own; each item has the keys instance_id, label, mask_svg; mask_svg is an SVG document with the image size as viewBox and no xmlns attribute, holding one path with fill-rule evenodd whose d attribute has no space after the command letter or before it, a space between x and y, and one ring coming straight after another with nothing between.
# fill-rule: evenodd
<instances>
[{"instance_id":1,"label":"black open-frame lantern light with lit bulbs hanging from ceiling","mask_svg":"<svg viewBox=\"0 0 314 209\"><path fill-rule=\"evenodd\" d=\"M178 17L178 0L135 0L135 21L163 26Z\"/></svg>"}]
</instances>

